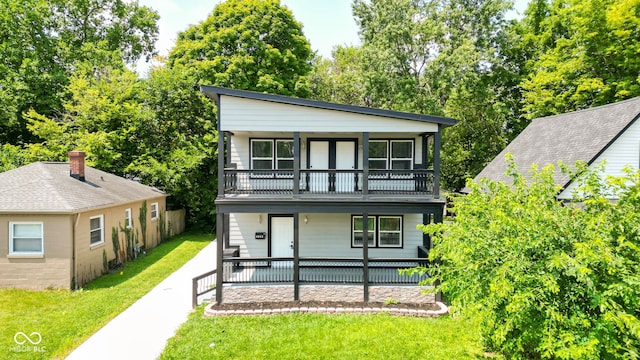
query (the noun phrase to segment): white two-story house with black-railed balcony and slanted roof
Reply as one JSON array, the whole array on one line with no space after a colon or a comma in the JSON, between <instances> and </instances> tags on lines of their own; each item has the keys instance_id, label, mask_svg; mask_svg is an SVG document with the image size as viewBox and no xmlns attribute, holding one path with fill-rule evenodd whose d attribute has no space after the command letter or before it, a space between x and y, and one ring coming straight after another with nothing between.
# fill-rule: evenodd
<instances>
[{"instance_id":1,"label":"white two-story house with black-railed balcony and slanted roof","mask_svg":"<svg viewBox=\"0 0 640 360\"><path fill-rule=\"evenodd\" d=\"M218 262L216 289L223 282L285 282L295 285L297 299L299 283L331 282L320 274L357 268L352 274L361 275L336 275L334 282L364 279L366 298L367 281L377 281L367 280L374 263L384 261L397 275L391 259L407 267L425 257L430 241L416 225L442 221L440 136L455 120L212 86L202 91L217 105L218 148L226 149L215 200L218 259L239 255ZM267 273L273 268L290 271L276 279ZM221 301L222 291L216 297Z\"/></svg>"}]
</instances>

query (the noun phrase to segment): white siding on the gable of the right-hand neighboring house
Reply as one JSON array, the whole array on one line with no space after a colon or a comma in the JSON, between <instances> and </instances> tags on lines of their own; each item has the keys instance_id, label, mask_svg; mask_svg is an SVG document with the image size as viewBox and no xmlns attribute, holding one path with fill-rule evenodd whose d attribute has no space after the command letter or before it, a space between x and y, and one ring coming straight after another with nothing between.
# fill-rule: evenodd
<instances>
[{"instance_id":1,"label":"white siding on the gable of the right-hand neighboring house","mask_svg":"<svg viewBox=\"0 0 640 360\"><path fill-rule=\"evenodd\" d=\"M625 166L632 166L638 169L640 166L640 121L636 121L618 139L607 148L594 161L590 170L596 169L602 162L605 163L604 175L621 176ZM564 189L558 199L571 199L573 192L577 189L579 181L574 181Z\"/></svg>"}]
</instances>

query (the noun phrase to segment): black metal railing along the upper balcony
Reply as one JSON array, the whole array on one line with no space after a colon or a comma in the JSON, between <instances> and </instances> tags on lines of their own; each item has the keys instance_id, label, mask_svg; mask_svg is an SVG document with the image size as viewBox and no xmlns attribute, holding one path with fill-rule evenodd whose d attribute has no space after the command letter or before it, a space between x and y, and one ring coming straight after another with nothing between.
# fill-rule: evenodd
<instances>
[{"instance_id":1,"label":"black metal railing along the upper balcony","mask_svg":"<svg viewBox=\"0 0 640 360\"><path fill-rule=\"evenodd\" d=\"M225 194L293 194L296 188L294 170L225 169ZM410 194L433 195L433 170L369 170L363 181L363 170L299 171L298 193L301 194Z\"/></svg>"}]
</instances>

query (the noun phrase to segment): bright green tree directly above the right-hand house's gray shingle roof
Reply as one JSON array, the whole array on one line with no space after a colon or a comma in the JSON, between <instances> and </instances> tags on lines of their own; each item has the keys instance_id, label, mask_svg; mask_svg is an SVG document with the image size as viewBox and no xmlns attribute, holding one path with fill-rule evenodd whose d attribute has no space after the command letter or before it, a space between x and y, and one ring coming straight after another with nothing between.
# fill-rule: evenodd
<instances>
[{"instance_id":1,"label":"bright green tree directly above the right-hand house's gray shingle roof","mask_svg":"<svg viewBox=\"0 0 640 360\"><path fill-rule=\"evenodd\" d=\"M639 0L539 1L530 9L523 21L542 49L521 84L527 117L640 95Z\"/></svg>"}]
</instances>

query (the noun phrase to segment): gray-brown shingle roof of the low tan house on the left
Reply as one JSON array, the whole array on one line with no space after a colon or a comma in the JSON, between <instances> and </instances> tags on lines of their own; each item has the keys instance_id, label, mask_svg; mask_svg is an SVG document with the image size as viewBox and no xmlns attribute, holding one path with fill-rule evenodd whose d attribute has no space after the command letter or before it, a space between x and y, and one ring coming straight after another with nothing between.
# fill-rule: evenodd
<instances>
[{"instance_id":1,"label":"gray-brown shingle roof of the low tan house on the left","mask_svg":"<svg viewBox=\"0 0 640 360\"><path fill-rule=\"evenodd\" d=\"M89 166L85 179L69 176L64 162L37 162L0 173L0 213L75 213L166 196Z\"/></svg>"}]
</instances>

